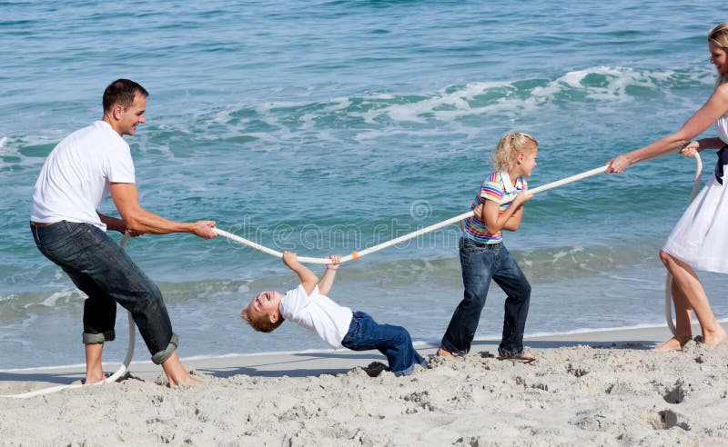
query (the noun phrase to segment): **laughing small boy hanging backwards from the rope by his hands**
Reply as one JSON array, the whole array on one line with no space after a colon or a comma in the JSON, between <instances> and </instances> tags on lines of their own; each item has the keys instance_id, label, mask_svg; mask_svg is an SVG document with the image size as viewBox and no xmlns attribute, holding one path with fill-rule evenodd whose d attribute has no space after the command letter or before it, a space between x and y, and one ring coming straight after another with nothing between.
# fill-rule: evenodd
<instances>
[{"instance_id":1,"label":"laughing small boy hanging backwards from the rope by his hands","mask_svg":"<svg viewBox=\"0 0 728 447\"><path fill-rule=\"evenodd\" d=\"M415 364L427 363L415 351L410 333L400 326L376 323L368 314L352 313L326 296L334 283L340 256L329 256L321 281L319 277L298 263L296 253L284 252L283 263L298 274L301 283L285 295L275 291L262 292L241 314L256 331L269 333L288 319L315 331L326 343L336 349L344 346L352 351L377 349L387 356L389 371L394 375L409 375Z\"/></svg>"}]
</instances>

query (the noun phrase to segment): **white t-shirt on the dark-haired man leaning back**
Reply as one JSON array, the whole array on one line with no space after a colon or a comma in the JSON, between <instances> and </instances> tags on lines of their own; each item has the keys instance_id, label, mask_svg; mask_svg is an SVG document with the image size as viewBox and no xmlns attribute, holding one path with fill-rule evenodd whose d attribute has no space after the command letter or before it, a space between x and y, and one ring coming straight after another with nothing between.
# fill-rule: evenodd
<instances>
[{"instance_id":1,"label":"white t-shirt on the dark-haired man leaning back","mask_svg":"<svg viewBox=\"0 0 728 447\"><path fill-rule=\"evenodd\" d=\"M121 135L96 121L66 136L45 159L30 220L80 222L106 231L96 209L109 195L110 182L135 183L134 162Z\"/></svg>"}]
</instances>

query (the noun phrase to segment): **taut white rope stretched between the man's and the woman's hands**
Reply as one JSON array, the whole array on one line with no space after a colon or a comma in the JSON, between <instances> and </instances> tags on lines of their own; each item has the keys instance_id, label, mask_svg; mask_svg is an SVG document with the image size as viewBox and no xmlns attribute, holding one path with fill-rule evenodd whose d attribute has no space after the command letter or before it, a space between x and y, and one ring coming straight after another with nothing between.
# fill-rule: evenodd
<instances>
[{"instance_id":1,"label":"taut white rope stretched between the man's and the woman's hands","mask_svg":"<svg viewBox=\"0 0 728 447\"><path fill-rule=\"evenodd\" d=\"M538 186L536 188L530 189L530 190L528 190L528 193L529 194L538 194L538 193L542 193L544 191L550 190L551 188L555 188L557 186L561 186L564 184L571 184L571 182L576 182L577 180L581 180L586 177L590 177L591 175L601 174L604 172L606 167L607 166L604 165L604 166L600 166L598 168L591 169L590 171L583 172L581 174L571 175L571 177L566 177L561 180L551 182L550 184L544 184L544 185ZM458 223L463 219L467 219L471 215L473 215L472 211L469 211L469 212L463 213L463 214L459 214L454 217L450 217L450 219L448 219L446 221L442 221L438 224L432 224L430 226L426 226L424 228L421 228L420 230L414 231L412 233L404 234L402 236L391 239L385 243L379 243L378 245L374 245L372 247L366 248L364 250L361 250L360 252L353 252L351 254L343 256L341 258L341 263L346 263L348 261L351 261L352 259L359 259L361 256L364 256L366 254L379 252L379 250L390 247L397 243L403 243L405 241L409 241L410 239L418 237L422 234L430 233L435 230L438 230L438 229L442 228L443 226ZM272 256L276 256L278 258L283 257L283 253L280 253L276 250L265 247L259 243L254 243L253 241L245 239L244 237L240 237L237 234L227 233L226 231L220 230L219 228L213 228L213 231L221 236L227 237L228 239L230 239L232 241L235 241L237 243L242 243L244 245L248 245L248 247L255 248L256 250L259 250L263 253L268 253L268 254L270 254ZM301 263L331 263L331 261L326 258L309 258L306 256L298 256L298 261Z\"/></svg>"}]
</instances>

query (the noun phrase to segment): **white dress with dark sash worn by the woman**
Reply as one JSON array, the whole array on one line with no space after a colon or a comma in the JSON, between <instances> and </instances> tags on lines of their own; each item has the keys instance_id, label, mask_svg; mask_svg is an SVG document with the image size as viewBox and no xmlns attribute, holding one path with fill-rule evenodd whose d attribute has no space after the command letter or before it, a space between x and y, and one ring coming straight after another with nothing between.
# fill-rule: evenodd
<instances>
[{"instance_id":1,"label":"white dress with dark sash worn by the woman","mask_svg":"<svg viewBox=\"0 0 728 447\"><path fill-rule=\"evenodd\" d=\"M718 137L728 144L728 113L715 122ZM723 184L713 170L700 193L672 229L662 250L694 269L728 273L728 165Z\"/></svg>"}]
</instances>

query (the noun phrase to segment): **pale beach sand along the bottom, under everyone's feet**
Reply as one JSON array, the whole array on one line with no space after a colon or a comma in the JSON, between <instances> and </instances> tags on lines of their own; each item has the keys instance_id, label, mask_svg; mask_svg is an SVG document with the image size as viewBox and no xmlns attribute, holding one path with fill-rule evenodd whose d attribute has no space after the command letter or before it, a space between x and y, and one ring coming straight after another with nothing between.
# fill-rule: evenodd
<instances>
[{"instance_id":1,"label":"pale beach sand along the bottom, under everyone's feet","mask_svg":"<svg viewBox=\"0 0 728 447\"><path fill-rule=\"evenodd\" d=\"M728 343L647 351L667 335L531 338L533 363L499 361L496 342L479 342L460 362L435 359L404 378L369 377L364 367L384 357L347 350L185 359L204 384L177 388L159 384L159 367L132 363L122 382L3 398L0 443L728 445ZM0 394L82 376L80 367L4 371Z\"/></svg>"}]
</instances>

